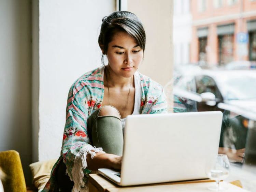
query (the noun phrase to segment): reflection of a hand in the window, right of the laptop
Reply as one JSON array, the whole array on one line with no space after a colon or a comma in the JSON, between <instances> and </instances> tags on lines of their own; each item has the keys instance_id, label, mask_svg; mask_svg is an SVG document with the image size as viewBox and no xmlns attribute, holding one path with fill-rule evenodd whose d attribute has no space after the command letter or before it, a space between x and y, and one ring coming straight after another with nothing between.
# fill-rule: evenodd
<instances>
[{"instance_id":1,"label":"reflection of a hand in the window, right of the laptop","mask_svg":"<svg viewBox=\"0 0 256 192\"><path fill-rule=\"evenodd\" d=\"M227 147L219 147L219 154L225 154L228 156L230 162L243 162L244 160L244 152L245 148L243 149L230 149Z\"/></svg>"}]
</instances>

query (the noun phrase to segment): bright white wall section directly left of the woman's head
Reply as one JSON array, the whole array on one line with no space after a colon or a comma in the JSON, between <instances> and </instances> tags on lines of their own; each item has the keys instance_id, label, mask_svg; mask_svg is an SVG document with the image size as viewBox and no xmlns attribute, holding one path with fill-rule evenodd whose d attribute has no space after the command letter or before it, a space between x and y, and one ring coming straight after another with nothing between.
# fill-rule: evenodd
<instances>
[{"instance_id":1,"label":"bright white wall section directly left of the woman's head","mask_svg":"<svg viewBox=\"0 0 256 192\"><path fill-rule=\"evenodd\" d=\"M101 19L113 11L115 0L39 0L39 160L60 155L69 88L82 74L101 65ZM36 110L38 103L33 102Z\"/></svg>"}]
</instances>

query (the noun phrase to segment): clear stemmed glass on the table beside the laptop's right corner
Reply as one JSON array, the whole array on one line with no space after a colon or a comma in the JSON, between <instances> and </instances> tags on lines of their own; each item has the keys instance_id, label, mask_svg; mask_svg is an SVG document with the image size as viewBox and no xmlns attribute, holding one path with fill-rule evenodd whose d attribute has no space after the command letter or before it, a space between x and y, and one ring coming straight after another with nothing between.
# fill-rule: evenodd
<instances>
[{"instance_id":1,"label":"clear stemmed glass on the table beside the laptop's right corner","mask_svg":"<svg viewBox=\"0 0 256 192\"><path fill-rule=\"evenodd\" d=\"M225 190L222 186L219 186L219 181L227 178L229 169L230 164L226 155L218 154L218 156L213 160L209 160L205 166L205 173L210 179L216 181L216 185L213 187L208 187L208 189L213 191Z\"/></svg>"}]
</instances>

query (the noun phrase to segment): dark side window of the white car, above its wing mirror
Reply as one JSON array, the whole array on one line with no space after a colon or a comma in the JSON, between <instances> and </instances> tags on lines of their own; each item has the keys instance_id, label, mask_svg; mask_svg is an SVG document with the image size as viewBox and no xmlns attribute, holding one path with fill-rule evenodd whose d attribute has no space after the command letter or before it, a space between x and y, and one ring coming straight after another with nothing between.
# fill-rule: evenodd
<instances>
[{"instance_id":1,"label":"dark side window of the white car, above its wing mirror","mask_svg":"<svg viewBox=\"0 0 256 192\"><path fill-rule=\"evenodd\" d=\"M221 93L218 90L218 87L213 80L213 78L209 76L197 76L196 78L196 92L198 94L211 92L215 95L216 98L221 99Z\"/></svg>"}]
</instances>

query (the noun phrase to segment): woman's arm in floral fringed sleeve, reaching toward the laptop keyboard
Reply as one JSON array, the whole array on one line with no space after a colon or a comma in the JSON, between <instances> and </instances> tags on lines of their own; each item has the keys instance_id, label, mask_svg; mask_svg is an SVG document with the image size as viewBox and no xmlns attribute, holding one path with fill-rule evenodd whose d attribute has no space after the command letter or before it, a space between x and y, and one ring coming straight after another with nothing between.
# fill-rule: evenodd
<instances>
[{"instance_id":1,"label":"woman's arm in floral fringed sleeve, reaching toward the laptop keyboard","mask_svg":"<svg viewBox=\"0 0 256 192\"><path fill-rule=\"evenodd\" d=\"M111 163L114 162L113 156L105 154L102 148L90 144L87 133L88 113L91 110L89 89L90 87L79 84L71 87L67 102L61 154L67 167L67 174L74 181L75 191L85 186L91 172L88 166L96 170L99 167L112 166Z\"/></svg>"}]
</instances>

